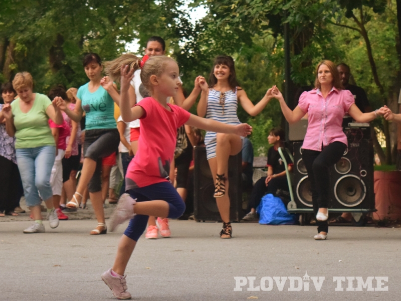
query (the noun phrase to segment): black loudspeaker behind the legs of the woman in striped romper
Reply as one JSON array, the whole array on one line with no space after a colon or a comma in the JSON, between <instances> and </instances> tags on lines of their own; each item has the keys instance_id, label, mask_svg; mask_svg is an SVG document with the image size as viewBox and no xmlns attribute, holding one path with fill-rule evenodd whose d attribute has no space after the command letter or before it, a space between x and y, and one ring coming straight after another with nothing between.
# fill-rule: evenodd
<instances>
[{"instance_id":1,"label":"black loudspeaker behind the legs of the woman in striped romper","mask_svg":"<svg viewBox=\"0 0 401 301\"><path fill-rule=\"evenodd\" d=\"M194 195L193 214L196 221L221 221L217 208L215 182L206 159L206 147L196 146L194 149ZM242 154L230 156L229 159L229 196L230 220L240 221L244 217L242 210ZM227 191L226 191L227 193Z\"/></svg>"}]
</instances>

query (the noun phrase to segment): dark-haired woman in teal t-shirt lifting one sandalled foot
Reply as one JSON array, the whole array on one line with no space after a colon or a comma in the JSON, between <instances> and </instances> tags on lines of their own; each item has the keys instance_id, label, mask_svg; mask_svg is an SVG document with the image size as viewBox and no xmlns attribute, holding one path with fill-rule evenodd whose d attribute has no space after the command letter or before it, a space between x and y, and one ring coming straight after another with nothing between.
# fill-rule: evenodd
<instances>
[{"instance_id":1,"label":"dark-haired woman in teal t-shirt lifting one sandalled foot","mask_svg":"<svg viewBox=\"0 0 401 301\"><path fill-rule=\"evenodd\" d=\"M120 95L112 81L102 80L103 66L99 55L86 55L83 65L89 82L78 89L75 110L71 111L63 100L58 102L60 108L76 122L81 120L84 111L86 114L84 164L77 191L67 207L78 208L85 188L88 187L98 221L96 229L90 234L106 234L101 192L102 158L118 151L120 135L114 119L114 102L119 104Z\"/></svg>"}]
</instances>

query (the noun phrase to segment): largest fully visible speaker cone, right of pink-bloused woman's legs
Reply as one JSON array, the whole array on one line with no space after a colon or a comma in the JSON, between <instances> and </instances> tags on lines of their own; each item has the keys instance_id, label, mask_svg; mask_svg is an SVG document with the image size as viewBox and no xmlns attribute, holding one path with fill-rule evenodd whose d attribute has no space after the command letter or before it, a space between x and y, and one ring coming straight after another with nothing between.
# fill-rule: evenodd
<instances>
[{"instance_id":1,"label":"largest fully visible speaker cone, right of pink-bloused woman's legs","mask_svg":"<svg viewBox=\"0 0 401 301\"><path fill-rule=\"evenodd\" d=\"M345 175L335 183L334 195L340 204L346 207L354 207L365 199L366 186L357 176Z\"/></svg>"}]
</instances>

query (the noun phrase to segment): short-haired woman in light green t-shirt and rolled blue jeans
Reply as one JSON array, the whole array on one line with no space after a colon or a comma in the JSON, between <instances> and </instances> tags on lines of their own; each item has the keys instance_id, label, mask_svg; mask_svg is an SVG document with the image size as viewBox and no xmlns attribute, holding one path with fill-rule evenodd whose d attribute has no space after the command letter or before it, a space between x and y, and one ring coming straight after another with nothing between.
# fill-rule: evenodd
<instances>
[{"instance_id":1,"label":"short-haired woman in light green t-shirt and rolled blue jeans","mask_svg":"<svg viewBox=\"0 0 401 301\"><path fill-rule=\"evenodd\" d=\"M45 232L40 206L42 199L46 203L50 227L59 225L50 185L56 146L48 121L51 118L61 124L63 116L46 95L32 92L33 79L30 73L17 73L13 87L19 98L11 104L5 104L2 114L6 118L7 133L16 137L17 165L25 200L35 221L24 233Z\"/></svg>"}]
</instances>

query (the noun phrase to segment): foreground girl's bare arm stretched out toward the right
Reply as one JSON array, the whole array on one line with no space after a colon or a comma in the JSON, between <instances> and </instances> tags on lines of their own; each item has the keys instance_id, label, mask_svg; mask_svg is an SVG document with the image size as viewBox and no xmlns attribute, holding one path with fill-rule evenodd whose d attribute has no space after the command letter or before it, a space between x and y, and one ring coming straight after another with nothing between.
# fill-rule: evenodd
<instances>
[{"instance_id":1,"label":"foreground girl's bare arm stretched out toward the right","mask_svg":"<svg viewBox=\"0 0 401 301\"><path fill-rule=\"evenodd\" d=\"M247 123L241 123L237 125L226 124L209 118L203 118L191 114L188 121L185 122L187 125L195 126L212 132L237 134L239 136L246 137L252 133L252 126Z\"/></svg>"}]
</instances>

